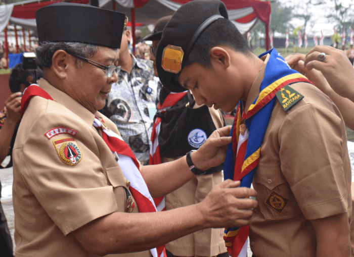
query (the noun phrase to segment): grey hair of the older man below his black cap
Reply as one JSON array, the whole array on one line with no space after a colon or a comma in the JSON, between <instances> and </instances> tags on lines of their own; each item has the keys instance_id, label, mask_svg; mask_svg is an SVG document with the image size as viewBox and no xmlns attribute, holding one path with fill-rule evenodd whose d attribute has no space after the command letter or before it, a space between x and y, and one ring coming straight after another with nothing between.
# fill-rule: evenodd
<instances>
[{"instance_id":1,"label":"grey hair of the older man below his black cap","mask_svg":"<svg viewBox=\"0 0 354 257\"><path fill-rule=\"evenodd\" d=\"M57 50L64 50L85 58L94 56L98 51L99 46L92 44L84 44L78 42L42 42L36 49L36 62L39 67L50 68L52 58ZM81 60L75 58L76 68L82 67Z\"/></svg>"}]
</instances>

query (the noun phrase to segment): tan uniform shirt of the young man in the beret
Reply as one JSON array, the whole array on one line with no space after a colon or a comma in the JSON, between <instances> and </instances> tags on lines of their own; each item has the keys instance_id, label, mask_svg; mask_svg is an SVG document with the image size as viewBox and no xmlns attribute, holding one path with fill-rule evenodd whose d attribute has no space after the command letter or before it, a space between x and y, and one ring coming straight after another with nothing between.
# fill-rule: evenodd
<instances>
[{"instance_id":1,"label":"tan uniform shirt of the young man in the beret","mask_svg":"<svg viewBox=\"0 0 354 257\"><path fill-rule=\"evenodd\" d=\"M246 108L259 91L265 65ZM310 220L342 213L351 219L351 169L341 114L315 86L299 82L290 87L304 98L287 112L276 100L253 178L258 207L249 238L256 257L316 256Z\"/></svg>"}]
</instances>

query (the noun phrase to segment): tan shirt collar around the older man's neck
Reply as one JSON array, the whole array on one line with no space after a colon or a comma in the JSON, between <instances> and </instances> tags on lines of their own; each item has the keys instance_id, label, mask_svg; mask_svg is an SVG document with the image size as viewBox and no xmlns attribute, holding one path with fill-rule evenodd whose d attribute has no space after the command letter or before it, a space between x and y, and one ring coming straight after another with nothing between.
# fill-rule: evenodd
<instances>
[{"instance_id":1,"label":"tan shirt collar around the older man's neck","mask_svg":"<svg viewBox=\"0 0 354 257\"><path fill-rule=\"evenodd\" d=\"M95 116L100 118L102 117L99 112L96 112L95 114L91 113L81 104L79 104L76 100L71 98L68 94L51 85L47 80L41 78L38 81L38 85L40 88L49 93L53 100L55 100L56 102L63 105L65 108L69 109L71 112L79 116L87 124L93 125Z\"/></svg>"}]
</instances>

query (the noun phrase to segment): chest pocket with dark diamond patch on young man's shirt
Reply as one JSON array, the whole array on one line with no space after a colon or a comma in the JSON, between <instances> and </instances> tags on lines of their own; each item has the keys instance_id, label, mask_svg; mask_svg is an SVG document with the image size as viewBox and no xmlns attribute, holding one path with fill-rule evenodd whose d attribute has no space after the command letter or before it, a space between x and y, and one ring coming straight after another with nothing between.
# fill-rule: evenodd
<instances>
[{"instance_id":1,"label":"chest pocket with dark diamond patch on young man's shirt","mask_svg":"<svg viewBox=\"0 0 354 257\"><path fill-rule=\"evenodd\" d=\"M297 217L301 210L279 164L259 164L253 180L260 213L268 220Z\"/></svg>"}]
</instances>

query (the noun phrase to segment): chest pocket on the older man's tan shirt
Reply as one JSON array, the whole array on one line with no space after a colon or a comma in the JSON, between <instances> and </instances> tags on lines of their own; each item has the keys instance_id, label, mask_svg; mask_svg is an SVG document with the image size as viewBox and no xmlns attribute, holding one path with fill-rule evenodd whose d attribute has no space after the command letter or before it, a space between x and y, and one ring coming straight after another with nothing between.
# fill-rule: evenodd
<instances>
[{"instance_id":1,"label":"chest pocket on the older man's tan shirt","mask_svg":"<svg viewBox=\"0 0 354 257\"><path fill-rule=\"evenodd\" d=\"M108 183L113 187L113 192L116 198L118 210L117 212L124 213L127 210L127 180L123 175L120 167L105 168Z\"/></svg>"}]
</instances>

